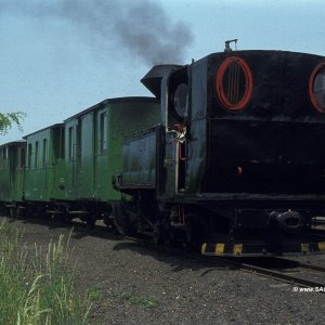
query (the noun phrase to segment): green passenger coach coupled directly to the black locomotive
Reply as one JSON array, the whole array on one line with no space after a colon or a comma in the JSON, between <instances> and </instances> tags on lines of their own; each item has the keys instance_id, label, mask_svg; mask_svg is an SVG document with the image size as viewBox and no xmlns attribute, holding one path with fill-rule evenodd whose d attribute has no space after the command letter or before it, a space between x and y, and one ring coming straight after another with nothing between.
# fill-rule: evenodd
<instances>
[{"instance_id":1,"label":"green passenger coach coupled directly to the black locomotive","mask_svg":"<svg viewBox=\"0 0 325 325\"><path fill-rule=\"evenodd\" d=\"M122 143L157 123L159 114L156 99L122 98L105 100L64 121L69 214L84 216L90 224L109 216L110 204L120 199L112 179L121 169Z\"/></svg>"}]
</instances>

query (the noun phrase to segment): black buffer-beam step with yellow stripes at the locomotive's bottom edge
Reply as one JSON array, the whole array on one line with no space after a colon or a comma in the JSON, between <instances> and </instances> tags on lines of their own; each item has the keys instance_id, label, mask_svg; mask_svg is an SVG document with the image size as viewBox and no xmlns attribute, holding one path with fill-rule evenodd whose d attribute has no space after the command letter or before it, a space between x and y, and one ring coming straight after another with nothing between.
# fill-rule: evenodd
<instances>
[{"instance_id":1,"label":"black buffer-beam step with yellow stripes at the locomotive's bottom edge","mask_svg":"<svg viewBox=\"0 0 325 325\"><path fill-rule=\"evenodd\" d=\"M325 252L325 242L309 243L204 243L202 253L209 256L290 256Z\"/></svg>"}]
</instances>

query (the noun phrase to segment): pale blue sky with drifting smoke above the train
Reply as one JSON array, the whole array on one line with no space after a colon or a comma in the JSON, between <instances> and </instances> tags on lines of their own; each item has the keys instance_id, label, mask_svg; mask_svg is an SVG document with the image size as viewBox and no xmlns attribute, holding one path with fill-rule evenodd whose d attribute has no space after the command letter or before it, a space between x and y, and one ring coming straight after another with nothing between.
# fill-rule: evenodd
<instances>
[{"instance_id":1,"label":"pale blue sky with drifting smoke above the train","mask_svg":"<svg viewBox=\"0 0 325 325\"><path fill-rule=\"evenodd\" d=\"M238 38L238 50L325 55L323 6L321 0L0 0L0 109L27 113L24 132L13 128L0 143L108 98L150 95L139 80L153 62L187 64L223 51L226 39Z\"/></svg>"}]
</instances>

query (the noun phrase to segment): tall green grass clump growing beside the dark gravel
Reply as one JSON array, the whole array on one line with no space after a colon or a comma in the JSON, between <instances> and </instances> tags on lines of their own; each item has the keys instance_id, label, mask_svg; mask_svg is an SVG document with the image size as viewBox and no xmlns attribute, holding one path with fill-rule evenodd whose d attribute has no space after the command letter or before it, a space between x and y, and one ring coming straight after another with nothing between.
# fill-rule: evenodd
<instances>
[{"instance_id":1,"label":"tall green grass clump growing beside the dark gravel","mask_svg":"<svg viewBox=\"0 0 325 325\"><path fill-rule=\"evenodd\" d=\"M47 250L22 246L22 233L0 224L0 324L89 324L91 296L77 295L68 240L60 236ZM94 294L93 294L94 295Z\"/></svg>"}]
</instances>

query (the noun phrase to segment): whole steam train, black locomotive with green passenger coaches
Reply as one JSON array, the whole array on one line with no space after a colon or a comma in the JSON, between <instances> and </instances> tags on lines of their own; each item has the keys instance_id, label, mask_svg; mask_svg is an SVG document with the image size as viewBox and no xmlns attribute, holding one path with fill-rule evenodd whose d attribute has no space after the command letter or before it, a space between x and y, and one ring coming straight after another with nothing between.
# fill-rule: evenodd
<instances>
[{"instance_id":1,"label":"whole steam train, black locomotive with green passenger coaches","mask_svg":"<svg viewBox=\"0 0 325 325\"><path fill-rule=\"evenodd\" d=\"M154 66L154 98L105 100L0 146L10 214L103 219L205 255L325 251L325 57L225 51Z\"/></svg>"}]
</instances>

